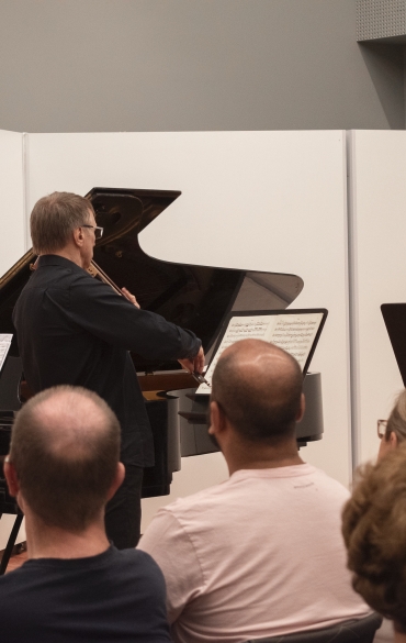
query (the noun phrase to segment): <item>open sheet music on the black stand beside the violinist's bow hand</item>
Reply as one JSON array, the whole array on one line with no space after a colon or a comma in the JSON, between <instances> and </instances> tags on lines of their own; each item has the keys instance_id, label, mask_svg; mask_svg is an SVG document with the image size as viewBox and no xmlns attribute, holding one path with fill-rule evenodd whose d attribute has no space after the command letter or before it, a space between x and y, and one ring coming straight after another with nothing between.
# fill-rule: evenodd
<instances>
[{"instance_id":1,"label":"open sheet music on the black stand beside the violinist's bow hand","mask_svg":"<svg viewBox=\"0 0 406 643\"><path fill-rule=\"evenodd\" d=\"M323 312L298 314L263 314L233 317L218 350L211 362L205 379L212 384L213 372L223 351L239 340L263 340L284 348L295 357L303 370L318 328ZM196 393L210 393L211 386L201 384Z\"/></svg>"}]
</instances>

